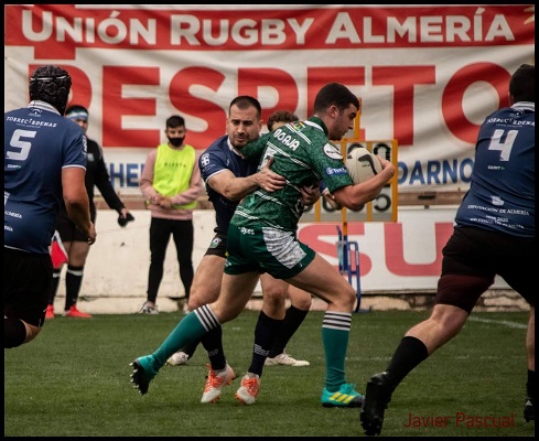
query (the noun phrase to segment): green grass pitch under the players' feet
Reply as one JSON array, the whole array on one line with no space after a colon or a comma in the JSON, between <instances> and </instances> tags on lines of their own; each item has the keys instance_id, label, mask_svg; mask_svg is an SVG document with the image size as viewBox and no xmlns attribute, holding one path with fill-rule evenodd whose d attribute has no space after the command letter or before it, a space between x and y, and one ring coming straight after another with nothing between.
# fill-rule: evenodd
<instances>
[{"instance_id":1,"label":"green grass pitch under the players' feet","mask_svg":"<svg viewBox=\"0 0 539 441\"><path fill-rule=\"evenodd\" d=\"M364 391L367 379L384 370L403 333L427 314L354 314L347 380ZM4 437L363 437L358 409L320 404L322 315L311 312L288 347L311 366L267 367L254 406L234 398L239 378L225 388L218 404L200 402L207 374L202 346L187 366L164 366L147 395L132 388L129 363L158 347L176 325L177 313L56 318L34 342L4 351ZM245 311L224 326L228 361L238 377L250 362L257 316ZM522 418L527 316L473 313L461 334L396 390L382 435L533 437L535 422ZM457 424L461 413L475 420L492 417L509 427ZM410 417L449 418L446 427L407 427Z\"/></svg>"}]
</instances>

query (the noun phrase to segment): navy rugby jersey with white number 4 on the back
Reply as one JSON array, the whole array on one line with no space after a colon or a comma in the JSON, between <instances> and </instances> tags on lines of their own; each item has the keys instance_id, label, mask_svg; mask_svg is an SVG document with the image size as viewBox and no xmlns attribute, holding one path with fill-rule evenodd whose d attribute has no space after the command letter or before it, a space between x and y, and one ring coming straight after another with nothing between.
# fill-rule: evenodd
<instances>
[{"instance_id":1,"label":"navy rugby jersey with white number 4 on the back","mask_svg":"<svg viewBox=\"0 0 539 441\"><path fill-rule=\"evenodd\" d=\"M456 226L535 237L535 126L533 103L516 103L485 119L475 146L471 186L456 212Z\"/></svg>"}]
</instances>

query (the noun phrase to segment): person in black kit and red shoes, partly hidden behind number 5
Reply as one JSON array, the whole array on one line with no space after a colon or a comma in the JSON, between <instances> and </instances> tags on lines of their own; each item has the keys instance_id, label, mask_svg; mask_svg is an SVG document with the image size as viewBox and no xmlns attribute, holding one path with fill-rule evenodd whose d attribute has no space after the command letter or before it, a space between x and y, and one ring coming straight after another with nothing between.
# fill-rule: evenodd
<instances>
[{"instance_id":1,"label":"person in black kit and red shoes, partly hidden behind number 5","mask_svg":"<svg viewBox=\"0 0 539 441\"><path fill-rule=\"evenodd\" d=\"M88 110L80 105L72 105L66 109L65 117L76 122L86 137L88 154L86 160L85 184L88 193L91 222L95 224L97 217L96 205L94 204L94 187L97 186L108 206L118 212L118 222L120 225L125 226L126 223L132 220L133 217L127 211L110 184L110 176L107 172L101 147L86 135L89 123ZM84 266L86 265L86 259L88 257L89 245L85 235L67 216L64 204L61 205L56 217L56 230L60 234L60 238L67 254L65 306L63 315L74 319L90 319L91 314L82 312L77 308L77 300L83 284ZM58 268L54 268L53 271L53 282L48 293L48 306L46 308L45 319L54 319L54 299L58 290L61 273L62 265Z\"/></svg>"}]
</instances>

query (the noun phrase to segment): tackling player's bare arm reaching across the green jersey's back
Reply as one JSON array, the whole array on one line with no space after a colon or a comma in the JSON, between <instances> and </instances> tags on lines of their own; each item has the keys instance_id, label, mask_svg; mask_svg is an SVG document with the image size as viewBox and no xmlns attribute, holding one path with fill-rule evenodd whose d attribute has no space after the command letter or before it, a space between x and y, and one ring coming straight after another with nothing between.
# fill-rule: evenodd
<instances>
[{"instance_id":1,"label":"tackling player's bare arm reaching across the green jersey's back","mask_svg":"<svg viewBox=\"0 0 539 441\"><path fill-rule=\"evenodd\" d=\"M223 170L211 176L207 184L230 201L241 201L258 187L274 192L282 189L287 180L270 170L272 162L271 158L259 172L245 178L237 178L230 170Z\"/></svg>"}]
</instances>

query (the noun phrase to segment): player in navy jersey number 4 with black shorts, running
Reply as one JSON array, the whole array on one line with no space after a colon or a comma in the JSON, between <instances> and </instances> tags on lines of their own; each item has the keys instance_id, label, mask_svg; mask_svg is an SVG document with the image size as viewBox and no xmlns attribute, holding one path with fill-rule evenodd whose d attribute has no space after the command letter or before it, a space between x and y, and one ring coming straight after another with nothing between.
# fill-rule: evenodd
<instances>
[{"instance_id":1,"label":"player in navy jersey number 4 with black shorts, running","mask_svg":"<svg viewBox=\"0 0 539 441\"><path fill-rule=\"evenodd\" d=\"M510 107L494 111L481 126L470 190L456 212L453 235L442 250L433 311L406 333L386 370L368 380L360 412L367 435L381 432L384 412L397 386L459 334L496 275L530 304L524 418L535 420L535 66L521 65L509 82Z\"/></svg>"}]
</instances>

